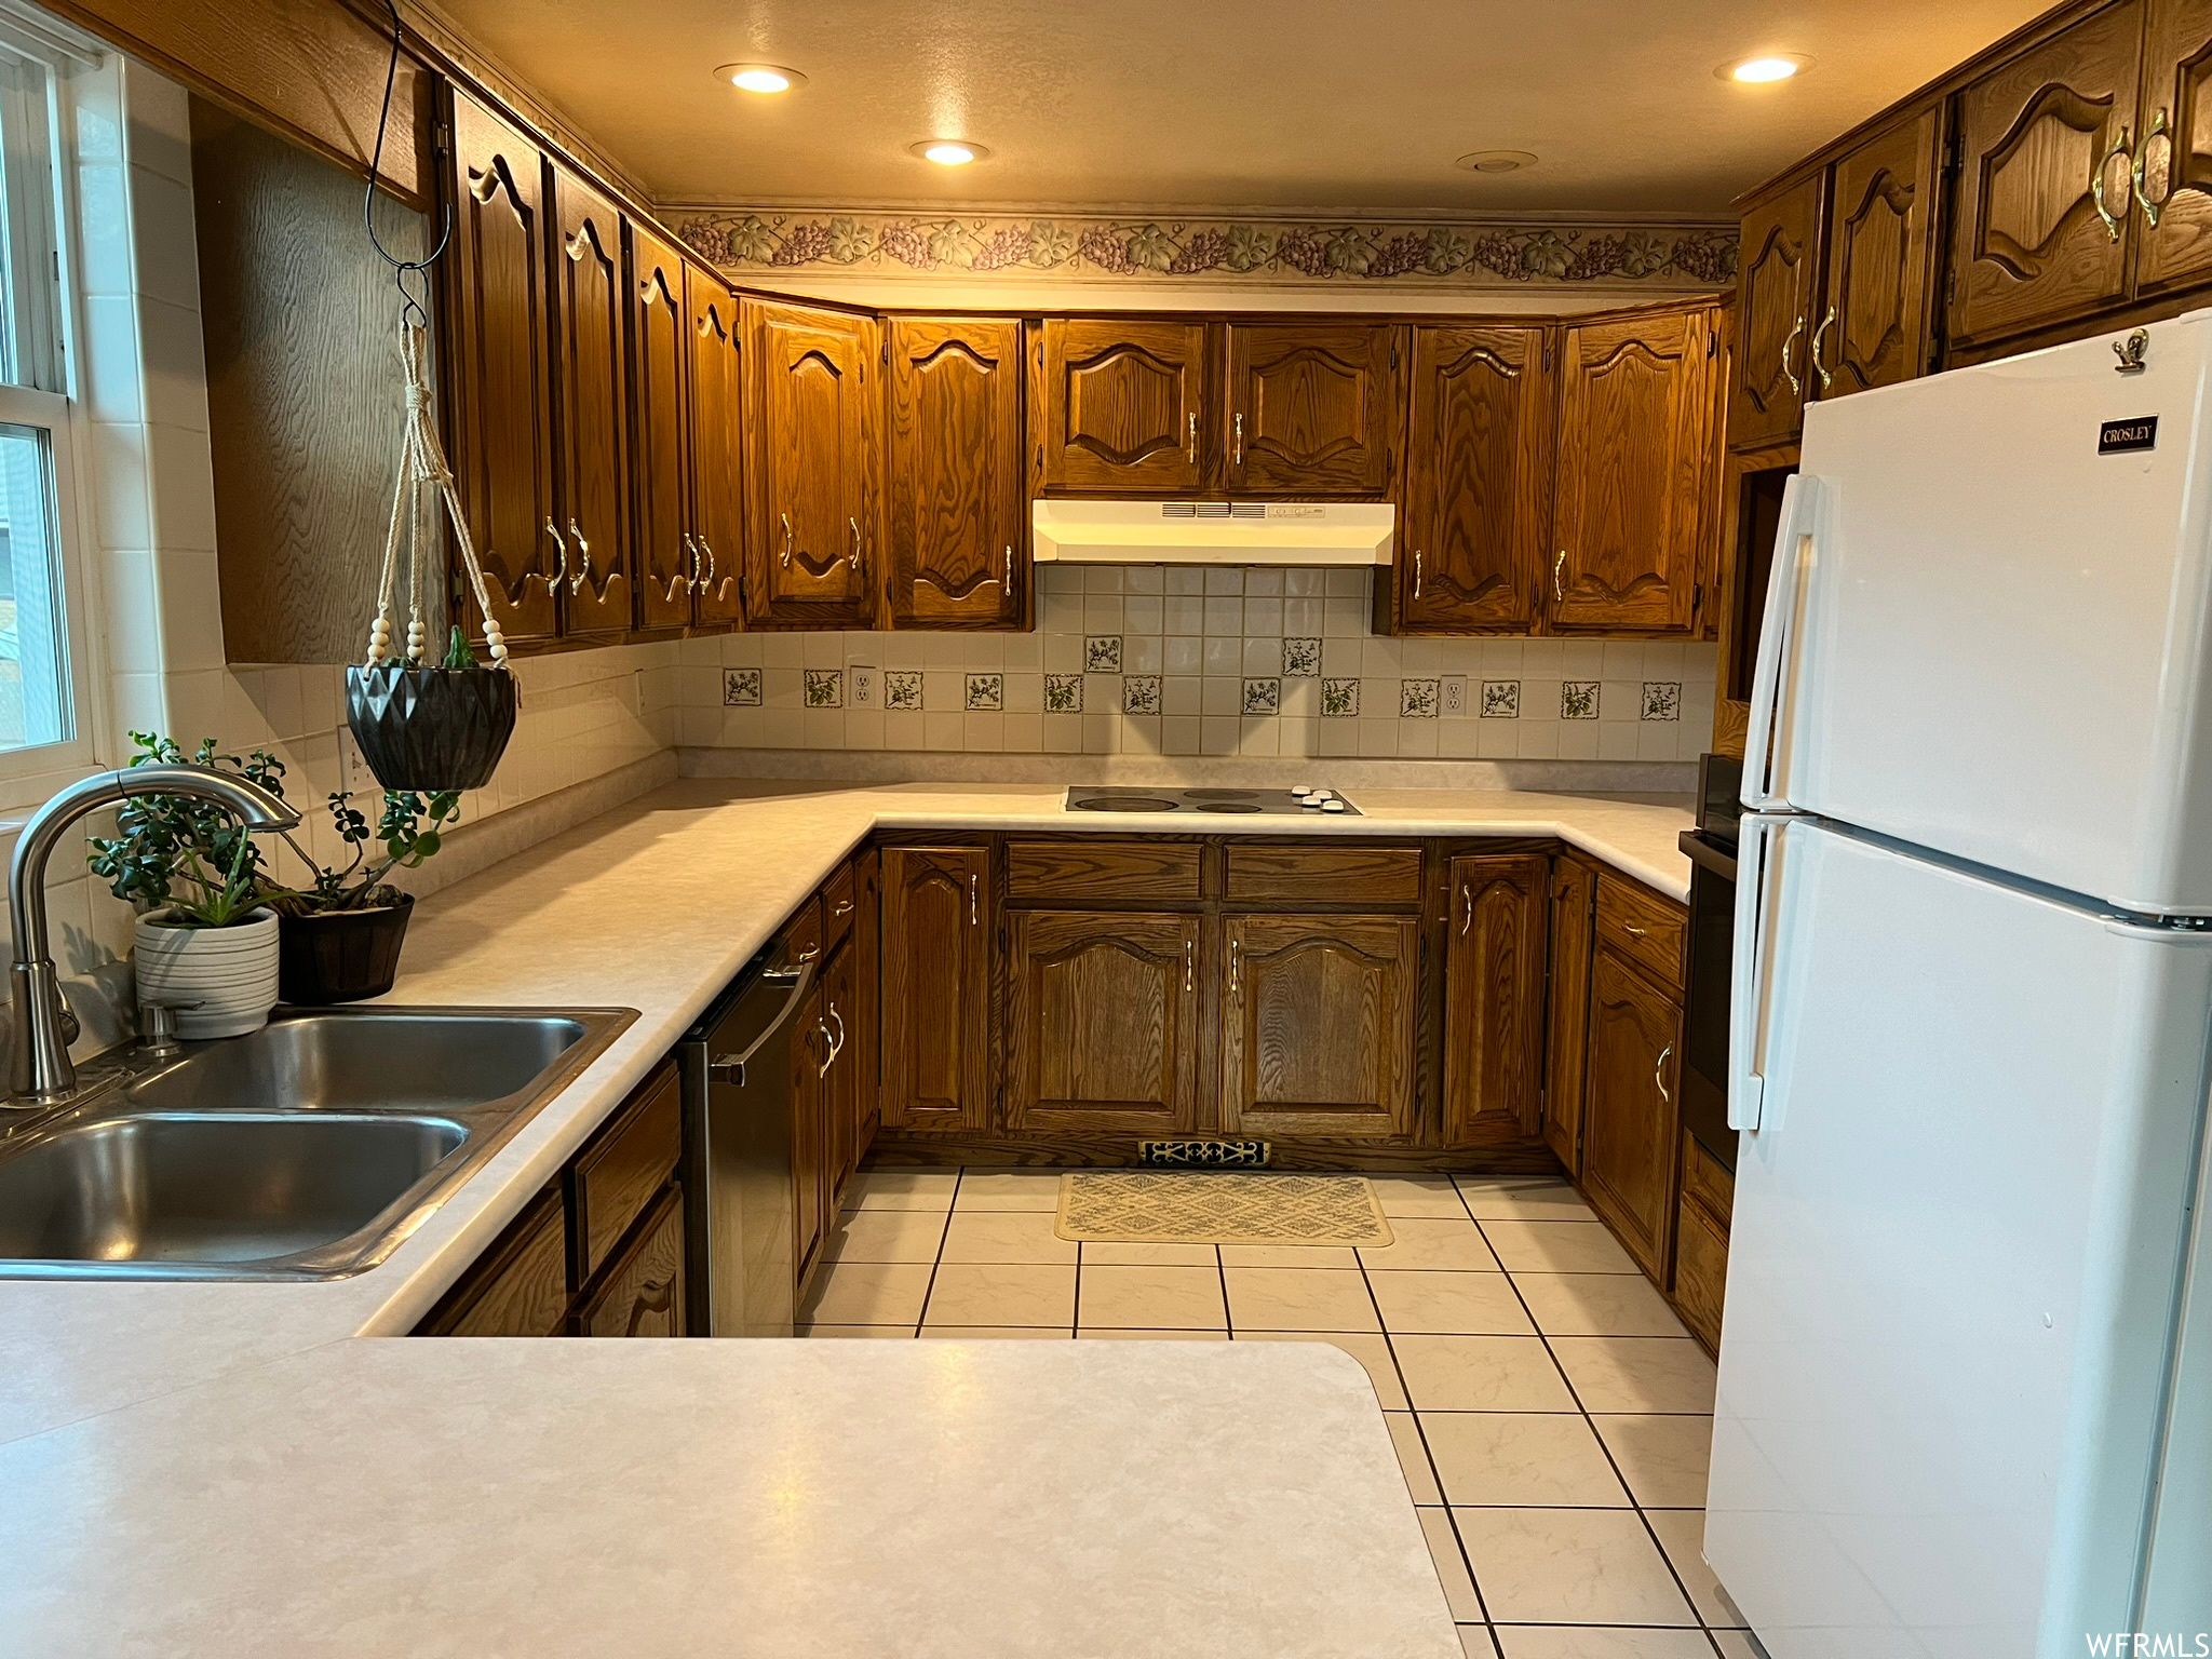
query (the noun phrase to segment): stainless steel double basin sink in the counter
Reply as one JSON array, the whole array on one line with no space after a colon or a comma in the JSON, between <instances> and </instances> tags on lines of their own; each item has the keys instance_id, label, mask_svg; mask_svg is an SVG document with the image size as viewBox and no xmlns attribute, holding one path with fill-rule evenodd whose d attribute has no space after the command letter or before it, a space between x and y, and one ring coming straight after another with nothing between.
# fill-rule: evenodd
<instances>
[{"instance_id":1,"label":"stainless steel double basin sink in the counter","mask_svg":"<svg viewBox=\"0 0 2212 1659\"><path fill-rule=\"evenodd\" d=\"M0 1279L374 1267L635 1018L299 1013L0 1117Z\"/></svg>"}]
</instances>

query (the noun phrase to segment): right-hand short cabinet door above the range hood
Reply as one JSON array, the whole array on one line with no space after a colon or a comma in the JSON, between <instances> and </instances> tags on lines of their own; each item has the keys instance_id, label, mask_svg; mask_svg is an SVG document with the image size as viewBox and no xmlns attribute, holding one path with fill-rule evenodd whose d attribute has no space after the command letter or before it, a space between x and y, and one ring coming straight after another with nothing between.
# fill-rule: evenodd
<instances>
[{"instance_id":1,"label":"right-hand short cabinet door above the range hood","mask_svg":"<svg viewBox=\"0 0 2212 1659\"><path fill-rule=\"evenodd\" d=\"M1396 323L1230 323L1228 487L1380 495L1398 445Z\"/></svg>"}]
</instances>

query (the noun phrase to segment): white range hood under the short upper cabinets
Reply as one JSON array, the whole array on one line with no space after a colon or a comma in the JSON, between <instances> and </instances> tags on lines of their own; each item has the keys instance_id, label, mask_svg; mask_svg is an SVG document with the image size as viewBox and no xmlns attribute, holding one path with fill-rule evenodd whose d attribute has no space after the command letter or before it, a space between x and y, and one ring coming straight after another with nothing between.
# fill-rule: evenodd
<instances>
[{"instance_id":1,"label":"white range hood under the short upper cabinets","mask_svg":"<svg viewBox=\"0 0 2212 1659\"><path fill-rule=\"evenodd\" d=\"M1037 564L1389 564L1389 502L1033 502Z\"/></svg>"}]
</instances>

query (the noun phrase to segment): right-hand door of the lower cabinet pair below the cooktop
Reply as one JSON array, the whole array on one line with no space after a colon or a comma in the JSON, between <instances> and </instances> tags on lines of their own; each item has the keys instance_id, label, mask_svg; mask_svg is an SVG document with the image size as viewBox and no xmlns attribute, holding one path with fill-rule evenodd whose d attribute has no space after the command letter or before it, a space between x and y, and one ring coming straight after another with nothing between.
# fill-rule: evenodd
<instances>
[{"instance_id":1,"label":"right-hand door of the lower cabinet pair below the cooktop","mask_svg":"<svg viewBox=\"0 0 2212 1659\"><path fill-rule=\"evenodd\" d=\"M1221 942L1221 1128L1411 1135L1420 925L1230 916Z\"/></svg>"}]
</instances>

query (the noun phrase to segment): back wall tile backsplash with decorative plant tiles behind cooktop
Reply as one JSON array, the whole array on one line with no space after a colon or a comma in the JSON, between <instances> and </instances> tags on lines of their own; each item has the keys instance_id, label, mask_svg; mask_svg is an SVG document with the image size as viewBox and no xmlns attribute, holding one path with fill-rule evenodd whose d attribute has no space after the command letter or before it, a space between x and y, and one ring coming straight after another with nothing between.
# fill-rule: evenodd
<instances>
[{"instance_id":1,"label":"back wall tile backsplash with decorative plant tiles behind cooktop","mask_svg":"<svg viewBox=\"0 0 2212 1659\"><path fill-rule=\"evenodd\" d=\"M1044 566L1037 630L684 644L686 748L1694 761L1714 648L1389 639L1369 571Z\"/></svg>"}]
</instances>

